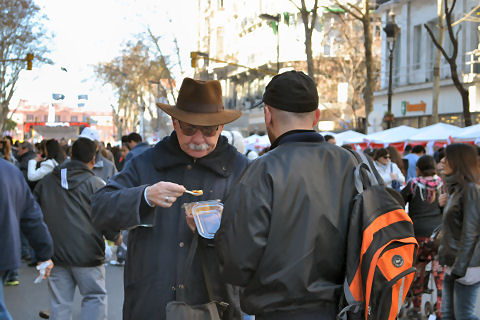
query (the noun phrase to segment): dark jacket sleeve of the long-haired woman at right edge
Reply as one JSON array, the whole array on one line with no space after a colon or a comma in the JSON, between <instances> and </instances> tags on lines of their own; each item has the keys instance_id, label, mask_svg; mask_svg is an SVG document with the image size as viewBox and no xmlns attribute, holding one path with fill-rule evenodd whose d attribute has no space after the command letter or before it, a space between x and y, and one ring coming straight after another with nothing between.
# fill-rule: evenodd
<instances>
[{"instance_id":1,"label":"dark jacket sleeve of the long-haired woman at right edge","mask_svg":"<svg viewBox=\"0 0 480 320\"><path fill-rule=\"evenodd\" d=\"M460 235L460 246L455 262L452 265L452 273L463 277L467 272L475 246L480 236L480 197L478 187L468 184L463 194L463 226Z\"/></svg>"}]
</instances>

